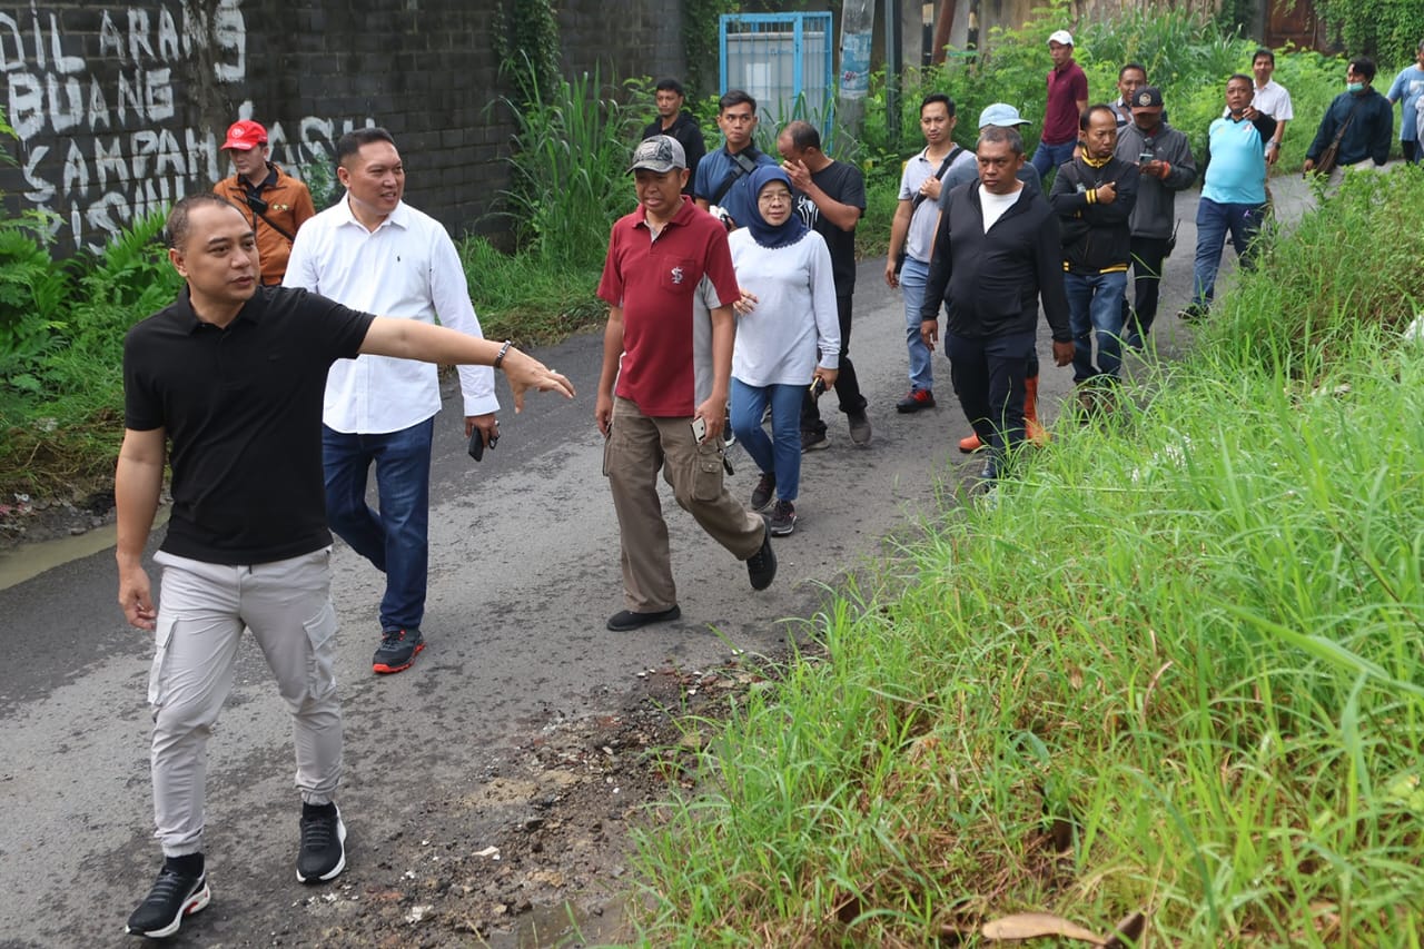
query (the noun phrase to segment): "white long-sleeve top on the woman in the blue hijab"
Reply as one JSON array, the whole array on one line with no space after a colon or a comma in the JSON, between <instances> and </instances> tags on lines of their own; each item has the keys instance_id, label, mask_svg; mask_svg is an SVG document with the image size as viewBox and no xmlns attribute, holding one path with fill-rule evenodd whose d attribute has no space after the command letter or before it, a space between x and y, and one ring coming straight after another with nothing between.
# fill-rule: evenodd
<instances>
[{"instance_id":1,"label":"white long-sleeve top on the woman in the blue hijab","mask_svg":"<svg viewBox=\"0 0 1424 949\"><path fill-rule=\"evenodd\" d=\"M732 375L749 386L805 386L817 365L839 369L840 318L826 239L807 231L796 244L765 248L740 228L728 242L738 285L756 295L755 309L736 318Z\"/></svg>"}]
</instances>

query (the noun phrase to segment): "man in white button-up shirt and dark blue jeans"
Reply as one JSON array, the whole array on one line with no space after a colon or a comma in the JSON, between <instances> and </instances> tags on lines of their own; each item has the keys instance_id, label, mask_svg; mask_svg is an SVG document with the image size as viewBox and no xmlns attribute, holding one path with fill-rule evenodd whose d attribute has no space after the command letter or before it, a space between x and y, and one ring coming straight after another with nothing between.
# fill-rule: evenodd
<instances>
[{"instance_id":1,"label":"man in white button-up shirt and dark blue jeans","mask_svg":"<svg viewBox=\"0 0 1424 949\"><path fill-rule=\"evenodd\" d=\"M470 288L444 227L402 202L406 171L390 133L359 128L336 142L346 197L298 234L283 284L353 309L481 336ZM494 373L460 366L466 436L498 433ZM376 673L409 668L424 648L430 442L440 410L436 366L389 356L337 361L328 375L322 447L326 516L342 540L386 573ZM380 510L366 504L376 465Z\"/></svg>"}]
</instances>

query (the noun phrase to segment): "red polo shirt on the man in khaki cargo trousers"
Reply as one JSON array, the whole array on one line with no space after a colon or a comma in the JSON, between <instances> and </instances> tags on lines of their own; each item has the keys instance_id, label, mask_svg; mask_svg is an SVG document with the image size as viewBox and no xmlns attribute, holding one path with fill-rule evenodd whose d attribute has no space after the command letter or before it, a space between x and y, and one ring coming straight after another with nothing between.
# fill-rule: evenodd
<instances>
[{"instance_id":1,"label":"red polo shirt on the man in khaki cargo trousers","mask_svg":"<svg viewBox=\"0 0 1424 949\"><path fill-rule=\"evenodd\" d=\"M703 279L722 306L740 296L726 229L691 198L682 198L656 239L642 208L614 224L598 298L622 306L617 393L646 416L684 418L696 410L695 368L712 361L711 333L696 332L696 321L711 321L706 308L696 306Z\"/></svg>"}]
</instances>

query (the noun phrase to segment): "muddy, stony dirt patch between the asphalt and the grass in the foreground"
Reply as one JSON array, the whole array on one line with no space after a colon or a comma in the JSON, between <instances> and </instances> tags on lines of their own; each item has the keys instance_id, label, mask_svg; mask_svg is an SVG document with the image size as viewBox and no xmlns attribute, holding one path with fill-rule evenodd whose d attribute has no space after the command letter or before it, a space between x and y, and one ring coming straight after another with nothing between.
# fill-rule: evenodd
<instances>
[{"instance_id":1,"label":"muddy, stony dirt patch between the asphalt and the grass in the foreground","mask_svg":"<svg viewBox=\"0 0 1424 949\"><path fill-rule=\"evenodd\" d=\"M709 727L698 730L688 717L716 718L732 695L765 681L765 671L742 663L711 673L642 673L619 711L551 722L473 792L407 808L392 839L362 861L380 883L353 868L298 903L290 925L261 945L443 949L631 940L629 829L674 785L691 787ZM491 809L517 816L471 852L471 841L488 838ZM431 826L440 828L440 842L429 836ZM389 882L412 866L419 871Z\"/></svg>"}]
</instances>

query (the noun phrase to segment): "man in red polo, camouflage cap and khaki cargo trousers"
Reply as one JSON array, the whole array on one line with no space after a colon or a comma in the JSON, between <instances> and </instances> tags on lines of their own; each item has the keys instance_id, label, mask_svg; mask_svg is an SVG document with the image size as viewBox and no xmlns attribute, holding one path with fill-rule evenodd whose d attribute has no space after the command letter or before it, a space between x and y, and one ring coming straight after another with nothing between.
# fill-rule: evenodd
<instances>
[{"instance_id":1,"label":"man in red polo, camouflage cap and khaki cargo trousers","mask_svg":"<svg viewBox=\"0 0 1424 949\"><path fill-rule=\"evenodd\" d=\"M594 419L618 512L624 601L614 631L682 616L658 472L702 530L746 563L753 590L776 576L772 534L722 483L722 423L742 292L726 229L682 194L688 160L669 135L638 145L638 209L618 219L598 296L608 304ZM617 389L614 385L617 383Z\"/></svg>"}]
</instances>

